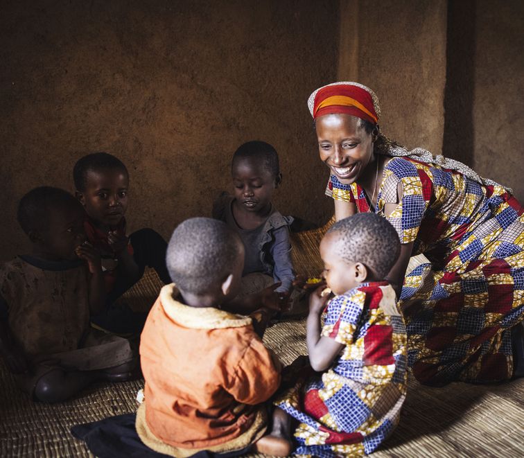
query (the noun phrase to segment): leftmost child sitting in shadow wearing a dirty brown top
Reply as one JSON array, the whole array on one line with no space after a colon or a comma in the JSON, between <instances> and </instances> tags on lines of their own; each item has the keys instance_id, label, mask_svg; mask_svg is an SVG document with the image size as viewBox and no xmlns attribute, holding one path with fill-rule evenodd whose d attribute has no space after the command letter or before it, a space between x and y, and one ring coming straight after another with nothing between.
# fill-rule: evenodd
<instances>
[{"instance_id":1,"label":"leftmost child sitting in shadow wearing a dirty brown top","mask_svg":"<svg viewBox=\"0 0 524 458\"><path fill-rule=\"evenodd\" d=\"M53 403L94 380L132 378L136 349L89 326L105 289L82 206L62 189L35 188L21 199L18 220L33 249L0 267L0 354L19 386Z\"/></svg>"}]
</instances>

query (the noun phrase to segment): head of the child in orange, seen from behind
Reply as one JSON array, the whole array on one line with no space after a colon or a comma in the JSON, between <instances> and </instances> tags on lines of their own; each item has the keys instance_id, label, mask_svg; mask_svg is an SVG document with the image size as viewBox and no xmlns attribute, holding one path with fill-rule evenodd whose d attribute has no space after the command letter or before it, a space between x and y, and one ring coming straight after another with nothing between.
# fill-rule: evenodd
<instances>
[{"instance_id":1,"label":"head of the child in orange, seen from behind","mask_svg":"<svg viewBox=\"0 0 524 458\"><path fill-rule=\"evenodd\" d=\"M234 297L244 267L244 246L224 222L211 218L185 220L173 232L166 254L169 275L177 288L193 296Z\"/></svg>"}]
</instances>

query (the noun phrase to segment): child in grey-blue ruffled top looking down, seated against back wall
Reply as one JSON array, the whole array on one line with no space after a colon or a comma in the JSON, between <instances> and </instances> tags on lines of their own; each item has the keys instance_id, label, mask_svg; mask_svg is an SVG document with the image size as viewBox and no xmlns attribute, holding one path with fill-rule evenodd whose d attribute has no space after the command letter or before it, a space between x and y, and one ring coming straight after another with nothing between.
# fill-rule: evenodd
<instances>
[{"instance_id":1,"label":"child in grey-blue ruffled top looking down, seated against back wall","mask_svg":"<svg viewBox=\"0 0 524 458\"><path fill-rule=\"evenodd\" d=\"M220 195L213 218L224 221L244 243L241 296L275 282L281 283L277 292L288 294L295 279L289 241L293 218L282 216L271 203L282 181L277 151L263 141L244 143L233 155L231 173L234 196ZM256 272L264 275L250 275Z\"/></svg>"}]
</instances>

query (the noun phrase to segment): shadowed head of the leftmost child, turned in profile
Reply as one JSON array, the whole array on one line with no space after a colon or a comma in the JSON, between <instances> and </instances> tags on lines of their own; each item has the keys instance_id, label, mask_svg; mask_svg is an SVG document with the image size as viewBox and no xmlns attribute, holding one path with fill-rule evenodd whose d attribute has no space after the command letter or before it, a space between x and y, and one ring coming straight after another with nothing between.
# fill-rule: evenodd
<instances>
[{"instance_id":1,"label":"shadowed head of the leftmost child, turned in profile","mask_svg":"<svg viewBox=\"0 0 524 458\"><path fill-rule=\"evenodd\" d=\"M82 245L84 211L67 191L41 186L29 191L18 204L17 219L33 243L33 251L54 261L78 259Z\"/></svg>"}]
</instances>

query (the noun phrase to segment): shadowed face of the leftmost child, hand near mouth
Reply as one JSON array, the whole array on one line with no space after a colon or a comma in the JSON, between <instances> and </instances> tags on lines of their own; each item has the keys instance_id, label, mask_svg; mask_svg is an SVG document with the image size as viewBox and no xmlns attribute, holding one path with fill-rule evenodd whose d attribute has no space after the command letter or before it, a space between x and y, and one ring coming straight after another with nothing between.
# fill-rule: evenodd
<instances>
[{"instance_id":1,"label":"shadowed face of the leftmost child, hand near mouth","mask_svg":"<svg viewBox=\"0 0 524 458\"><path fill-rule=\"evenodd\" d=\"M77 203L51 208L47 227L37 237L37 251L45 258L75 261L75 249L85 241L82 207Z\"/></svg>"}]
</instances>

